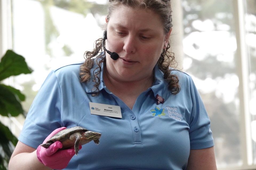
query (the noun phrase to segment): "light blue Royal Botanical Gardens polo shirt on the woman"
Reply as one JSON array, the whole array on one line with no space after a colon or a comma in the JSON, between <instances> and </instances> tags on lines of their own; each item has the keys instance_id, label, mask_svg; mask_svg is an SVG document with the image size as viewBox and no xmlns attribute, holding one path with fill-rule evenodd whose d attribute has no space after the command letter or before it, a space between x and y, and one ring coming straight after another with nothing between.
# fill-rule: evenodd
<instances>
[{"instance_id":1,"label":"light blue Royal Botanical Gardens polo shirt on the woman","mask_svg":"<svg viewBox=\"0 0 256 170\"><path fill-rule=\"evenodd\" d=\"M131 110L106 88L102 73L100 94L92 97L93 78L80 82L81 64L51 71L31 105L19 141L36 149L62 126L101 133L100 144L83 145L65 168L70 170L181 170L186 169L190 149L214 146L209 117L189 75L171 72L178 76L181 87L173 95L155 66L153 86L139 95ZM90 114L89 102L120 106L122 118Z\"/></svg>"}]
</instances>

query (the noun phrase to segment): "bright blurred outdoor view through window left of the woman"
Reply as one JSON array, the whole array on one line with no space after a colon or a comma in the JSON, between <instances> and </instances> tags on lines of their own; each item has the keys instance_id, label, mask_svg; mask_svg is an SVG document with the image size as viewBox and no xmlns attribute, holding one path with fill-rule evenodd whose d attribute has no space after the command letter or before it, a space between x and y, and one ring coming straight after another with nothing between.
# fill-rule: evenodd
<instances>
[{"instance_id":1,"label":"bright blurred outdoor view through window left of the woman","mask_svg":"<svg viewBox=\"0 0 256 170\"><path fill-rule=\"evenodd\" d=\"M97 2L97 3L96 3ZM50 70L83 61L102 36L106 1L12 0L13 49L34 70L15 78L26 112Z\"/></svg>"}]
</instances>

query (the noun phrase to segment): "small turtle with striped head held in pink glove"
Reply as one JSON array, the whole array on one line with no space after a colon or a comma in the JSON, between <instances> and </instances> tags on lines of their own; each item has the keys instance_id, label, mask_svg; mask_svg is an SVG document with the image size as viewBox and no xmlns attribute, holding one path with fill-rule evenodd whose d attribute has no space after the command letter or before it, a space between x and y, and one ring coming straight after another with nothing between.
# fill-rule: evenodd
<instances>
[{"instance_id":1,"label":"small turtle with striped head held in pink glove","mask_svg":"<svg viewBox=\"0 0 256 170\"><path fill-rule=\"evenodd\" d=\"M56 141L62 143L62 149L66 149L74 146L75 155L78 154L79 145L84 145L86 143L94 141L95 144L99 144L99 138L101 133L89 131L80 126L75 126L73 128L67 128L59 131L57 134L53 135L46 143L41 144L40 146L48 148L51 144Z\"/></svg>"}]
</instances>

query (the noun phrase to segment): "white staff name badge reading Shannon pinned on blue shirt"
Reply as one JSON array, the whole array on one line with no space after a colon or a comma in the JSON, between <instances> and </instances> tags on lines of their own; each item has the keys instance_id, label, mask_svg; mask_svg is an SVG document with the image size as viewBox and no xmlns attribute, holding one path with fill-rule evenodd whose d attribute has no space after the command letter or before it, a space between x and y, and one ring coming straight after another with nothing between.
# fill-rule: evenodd
<instances>
[{"instance_id":1,"label":"white staff name badge reading Shannon pinned on blue shirt","mask_svg":"<svg viewBox=\"0 0 256 170\"><path fill-rule=\"evenodd\" d=\"M89 102L91 114L122 118L120 106Z\"/></svg>"}]
</instances>

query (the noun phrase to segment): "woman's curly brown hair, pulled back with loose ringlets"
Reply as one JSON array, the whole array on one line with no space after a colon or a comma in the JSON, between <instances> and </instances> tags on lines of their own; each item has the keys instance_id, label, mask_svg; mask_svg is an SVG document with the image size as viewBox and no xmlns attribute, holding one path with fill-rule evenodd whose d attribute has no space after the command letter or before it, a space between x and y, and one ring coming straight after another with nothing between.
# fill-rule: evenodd
<instances>
[{"instance_id":1,"label":"woman's curly brown hair, pulled back with loose ringlets","mask_svg":"<svg viewBox=\"0 0 256 170\"><path fill-rule=\"evenodd\" d=\"M161 17L162 23L164 25L164 33L167 34L172 25L172 18L171 18L171 3L170 1L163 1L163 0L110 0L108 13L106 19L109 21L110 16L114 9L116 9L120 4L135 8L149 8L153 10L155 13L159 14ZM106 26L106 25L105 25ZM93 71L95 82L94 89L91 90L93 92L92 96L97 96L99 94L99 77L102 68L102 63L106 64L106 56L105 51L102 50L102 38L99 38L94 43L94 49L92 51L86 51L84 53L85 62L80 66L80 81L81 82L88 82L91 78L90 70L94 65L94 59L93 57L98 56L99 53L101 53L97 58L101 60L97 60L98 67ZM178 94L180 91L179 86L179 79L176 75L171 74L170 66L174 66L177 64L174 58L174 53L169 52L168 49L170 49L170 40L167 44L167 48L163 49L159 60L157 61L157 65L159 69L164 73L164 79L168 80L168 89L171 91L172 94ZM102 53L103 52L103 53Z\"/></svg>"}]
</instances>

